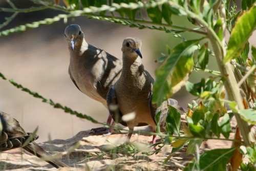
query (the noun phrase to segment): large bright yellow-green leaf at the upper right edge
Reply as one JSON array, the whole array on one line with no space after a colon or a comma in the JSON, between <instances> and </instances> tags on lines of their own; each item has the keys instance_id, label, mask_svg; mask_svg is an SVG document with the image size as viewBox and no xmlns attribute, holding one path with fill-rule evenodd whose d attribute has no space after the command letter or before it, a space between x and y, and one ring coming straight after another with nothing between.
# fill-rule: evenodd
<instances>
[{"instance_id":1,"label":"large bright yellow-green leaf at the upper right edge","mask_svg":"<svg viewBox=\"0 0 256 171\"><path fill-rule=\"evenodd\" d=\"M248 38L256 28L256 6L244 12L237 20L227 45L227 54L223 63L229 62L233 58L237 58L244 49Z\"/></svg>"}]
</instances>

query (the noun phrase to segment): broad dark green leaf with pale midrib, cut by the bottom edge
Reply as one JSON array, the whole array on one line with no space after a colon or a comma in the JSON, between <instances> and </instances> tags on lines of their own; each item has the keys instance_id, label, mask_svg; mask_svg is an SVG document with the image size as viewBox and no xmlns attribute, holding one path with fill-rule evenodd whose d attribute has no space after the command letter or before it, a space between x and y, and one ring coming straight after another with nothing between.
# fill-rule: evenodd
<instances>
[{"instance_id":1,"label":"broad dark green leaf with pale midrib, cut by the bottom edge","mask_svg":"<svg viewBox=\"0 0 256 171\"><path fill-rule=\"evenodd\" d=\"M226 170L227 162L232 157L235 148L212 149L200 156L201 170Z\"/></svg>"}]
</instances>

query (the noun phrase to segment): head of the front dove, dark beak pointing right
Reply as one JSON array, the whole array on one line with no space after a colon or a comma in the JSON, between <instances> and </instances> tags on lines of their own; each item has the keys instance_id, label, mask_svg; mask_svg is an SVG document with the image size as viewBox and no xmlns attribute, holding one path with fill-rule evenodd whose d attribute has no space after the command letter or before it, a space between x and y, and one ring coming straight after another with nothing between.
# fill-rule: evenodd
<instances>
[{"instance_id":1,"label":"head of the front dove, dark beak pointing right","mask_svg":"<svg viewBox=\"0 0 256 171\"><path fill-rule=\"evenodd\" d=\"M137 58L138 56L142 58L140 53L141 40L136 37L126 37L123 40L122 52L124 56L130 58Z\"/></svg>"}]
</instances>

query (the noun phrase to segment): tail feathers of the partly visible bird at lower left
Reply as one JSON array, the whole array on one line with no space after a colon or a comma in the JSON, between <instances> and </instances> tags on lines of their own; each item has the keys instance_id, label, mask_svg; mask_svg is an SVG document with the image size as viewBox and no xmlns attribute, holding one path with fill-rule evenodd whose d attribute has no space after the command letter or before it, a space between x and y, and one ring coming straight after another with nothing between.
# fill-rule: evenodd
<instances>
[{"instance_id":1,"label":"tail feathers of the partly visible bird at lower left","mask_svg":"<svg viewBox=\"0 0 256 171\"><path fill-rule=\"evenodd\" d=\"M42 160L45 160L46 162L50 163L51 165L53 165L56 168L59 167L69 167L67 164L61 162L60 160L57 159L44 159L44 157L48 157L51 156L51 154L49 154L48 152L46 152L44 149L42 149L37 143L35 142L31 142L28 145L23 147L26 151L28 151L29 153L42 158Z\"/></svg>"}]
</instances>

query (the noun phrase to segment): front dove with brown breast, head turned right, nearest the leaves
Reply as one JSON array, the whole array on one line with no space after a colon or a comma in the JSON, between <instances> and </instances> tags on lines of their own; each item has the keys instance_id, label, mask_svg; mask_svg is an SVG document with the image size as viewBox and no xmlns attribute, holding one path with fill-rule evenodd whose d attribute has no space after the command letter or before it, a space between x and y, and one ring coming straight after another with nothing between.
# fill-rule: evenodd
<instances>
[{"instance_id":1,"label":"front dove with brown breast, head turned right, nearest the leaves","mask_svg":"<svg viewBox=\"0 0 256 171\"><path fill-rule=\"evenodd\" d=\"M123 68L120 78L110 89L107 96L107 103L110 114L114 121L128 126L130 131L134 126L151 125L156 130L157 124L155 115L162 111L160 126L163 127L168 113L168 105L176 105L177 101L168 99L159 108L154 108L151 104L152 87L154 79L142 64L140 52L141 40L135 37L127 37L123 40ZM123 116L135 114L129 121L123 121ZM132 133L127 138L130 140ZM153 136L152 143L156 142Z\"/></svg>"}]
</instances>

